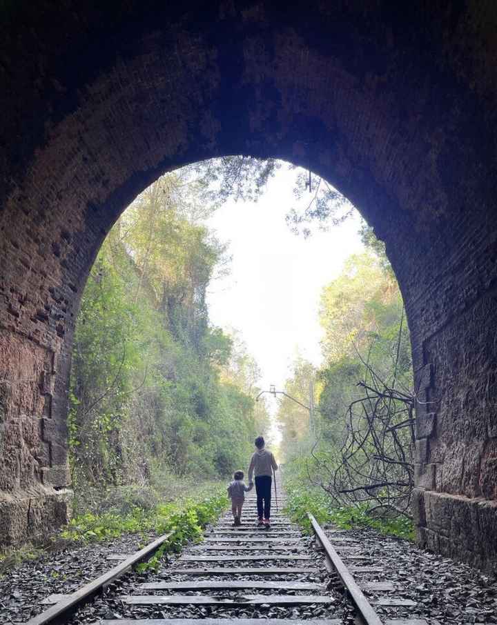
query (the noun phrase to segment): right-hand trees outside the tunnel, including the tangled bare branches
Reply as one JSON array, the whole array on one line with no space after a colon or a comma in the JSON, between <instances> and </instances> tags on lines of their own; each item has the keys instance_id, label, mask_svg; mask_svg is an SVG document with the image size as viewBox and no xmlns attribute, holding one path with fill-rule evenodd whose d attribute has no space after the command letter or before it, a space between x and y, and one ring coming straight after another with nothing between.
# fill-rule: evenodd
<instances>
[{"instance_id":1,"label":"right-hand trees outside the tunnel, including the tangled bare branches","mask_svg":"<svg viewBox=\"0 0 497 625\"><path fill-rule=\"evenodd\" d=\"M414 440L409 331L384 250L376 253L373 235L365 235L369 249L349 257L322 292L319 438L310 445L293 426L293 465L337 505L407 513ZM286 386L298 392L300 379L296 364ZM291 424L291 407L285 413L281 418Z\"/></svg>"}]
</instances>

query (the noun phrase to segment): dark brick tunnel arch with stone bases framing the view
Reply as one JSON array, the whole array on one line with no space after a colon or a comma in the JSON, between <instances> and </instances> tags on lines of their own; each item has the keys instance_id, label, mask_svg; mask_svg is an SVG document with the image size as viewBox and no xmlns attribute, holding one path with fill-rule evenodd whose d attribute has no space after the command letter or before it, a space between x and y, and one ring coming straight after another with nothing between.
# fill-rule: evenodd
<instances>
[{"instance_id":1,"label":"dark brick tunnel arch with stone bases framing the view","mask_svg":"<svg viewBox=\"0 0 497 625\"><path fill-rule=\"evenodd\" d=\"M102 4L13 4L1 26L0 541L66 518L70 345L110 226L163 172L245 154L311 168L386 242L420 399L418 537L492 566L496 9Z\"/></svg>"}]
</instances>

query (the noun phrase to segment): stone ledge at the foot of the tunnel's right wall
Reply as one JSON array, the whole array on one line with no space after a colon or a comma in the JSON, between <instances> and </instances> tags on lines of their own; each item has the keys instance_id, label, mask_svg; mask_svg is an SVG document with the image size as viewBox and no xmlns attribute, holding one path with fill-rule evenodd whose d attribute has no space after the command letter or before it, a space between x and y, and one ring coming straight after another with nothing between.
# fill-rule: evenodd
<instances>
[{"instance_id":1,"label":"stone ledge at the foot of the tunnel's right wall","mask_svg":"<svg viewBox=\"0 0 497 625\"><path fill-rule=\"evenodd\" d=\"M423 548L497 573L497 502L416 488L418 542Z\"/></svg>"}]
</instances>

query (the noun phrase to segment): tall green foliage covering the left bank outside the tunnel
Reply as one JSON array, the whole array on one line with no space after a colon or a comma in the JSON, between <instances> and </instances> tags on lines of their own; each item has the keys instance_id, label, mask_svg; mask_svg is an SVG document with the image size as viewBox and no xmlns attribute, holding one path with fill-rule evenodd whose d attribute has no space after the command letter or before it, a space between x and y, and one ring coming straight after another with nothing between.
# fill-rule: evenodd
<instances>
[{"instance_id":1,"label":"tall green foliage covering the left bank outside the tunnel","mask_svg":"<svg viewBox=\"0 0 497 625\"><path fill-rule=\"evenodd\" d=\"M90 272L70 386L76 490L146 484L157 465L204 479L231 473L265 427L253 371L230 373L249 355L208 319L206 290L227 259L199 222L213 210L203 172L177 170L137 197Z\"/></svg>"}]
</instances>

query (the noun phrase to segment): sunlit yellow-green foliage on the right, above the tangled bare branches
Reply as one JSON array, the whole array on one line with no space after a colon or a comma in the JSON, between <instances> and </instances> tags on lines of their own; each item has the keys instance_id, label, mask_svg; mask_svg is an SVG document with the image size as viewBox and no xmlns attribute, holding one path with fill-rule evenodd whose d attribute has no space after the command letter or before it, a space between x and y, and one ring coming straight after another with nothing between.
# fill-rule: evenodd
<instances>
[{"instance_id":1,"label":"sunlit yellow-green foliage on the right, above the tangled bare branches","mask_svg":"<svg viewBox=\"0 0 497 625\"><path fill-rule=\"evenodd\" d=\"M347 408L362 397L357 384L367 379L367 364L384 381L395 377L397 385L410 388L411 348L402 311L395 279L371 250L351 256L342 273L323 289L320 321L324 364L315 370L302 359L295 359L285 384L286 393L309 404L309 383L314 380L313 428L309 428L309 411L290 399L284 399L278 411L287 460L309 455L319 438L314 455L326 457L332 467L343 440Z\"/></svg>"}]
</instances>

